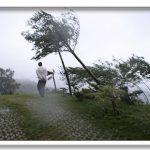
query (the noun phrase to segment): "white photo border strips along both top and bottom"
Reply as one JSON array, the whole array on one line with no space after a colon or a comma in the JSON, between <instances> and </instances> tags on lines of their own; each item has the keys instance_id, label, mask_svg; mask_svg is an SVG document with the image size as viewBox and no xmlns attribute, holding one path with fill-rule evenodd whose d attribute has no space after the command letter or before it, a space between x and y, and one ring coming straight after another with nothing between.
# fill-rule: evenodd
<instances>
[{"instance_id":1,"label":"white photo border strips along both top and bottom","mask_svg":"<svg viewBox=\"0 0 150 150\"><path fill-rule=\"evenodd\" d=\"M0 8L130 7L148 8L148 0L0 0ZM150 141L0 141L0 146L150 146Z\"/></svg>"}]
</instances>

